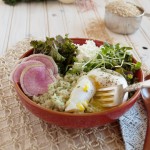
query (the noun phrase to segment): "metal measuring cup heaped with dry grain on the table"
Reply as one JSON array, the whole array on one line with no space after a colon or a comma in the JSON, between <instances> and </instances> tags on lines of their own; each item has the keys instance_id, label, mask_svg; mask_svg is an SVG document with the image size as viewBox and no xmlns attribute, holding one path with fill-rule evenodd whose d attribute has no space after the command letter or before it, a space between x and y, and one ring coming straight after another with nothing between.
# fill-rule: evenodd
<instances>
[{"instance_id":1,"label":"metal measuring cup heaped with dry grain on the table","mask_svg":"<svg viewBox=\"0 0 150 150\"><path fill-rule=\"evenodd\" d=\"M124 0L116 0L105 6L106 27L119 34L132 34L140 27L144 9Z\"/></svg>"}]
</instances>

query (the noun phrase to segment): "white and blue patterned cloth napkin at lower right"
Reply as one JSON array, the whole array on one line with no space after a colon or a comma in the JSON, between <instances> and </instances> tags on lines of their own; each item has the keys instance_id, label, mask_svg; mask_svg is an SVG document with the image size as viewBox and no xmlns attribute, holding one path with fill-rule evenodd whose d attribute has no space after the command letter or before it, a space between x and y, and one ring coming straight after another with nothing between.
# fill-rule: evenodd
<instances>
[{"instance_id":1,"label":"white and blue patterned cloth napkin at lower right","mask_svg":"<svg viewBox=\"0 0 150 150\"><path fill-rule=\"evenodd\" d=\"M147 115L142 98L119 121L126 150L143 150Z\"/></svg>"}]
</instances>

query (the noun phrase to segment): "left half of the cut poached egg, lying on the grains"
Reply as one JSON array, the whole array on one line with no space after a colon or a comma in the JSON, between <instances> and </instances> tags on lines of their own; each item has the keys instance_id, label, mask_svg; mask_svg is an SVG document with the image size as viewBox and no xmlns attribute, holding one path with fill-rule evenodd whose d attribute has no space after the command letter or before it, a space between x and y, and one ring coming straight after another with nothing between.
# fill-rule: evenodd
<instances>
[{"instance_id":1,"label":"left half of the cut poached egg, lying on the grains","mask_svg":"<svg viewBox=\"0 0 150 150\"><path fill-rule=\"evenodd\" d=\"M95 83L90 77L85 75L79 78L77 85L72 90L70 98L66 103L65 111L84 112L95 92Z\"/></svg>"}]
</instances>

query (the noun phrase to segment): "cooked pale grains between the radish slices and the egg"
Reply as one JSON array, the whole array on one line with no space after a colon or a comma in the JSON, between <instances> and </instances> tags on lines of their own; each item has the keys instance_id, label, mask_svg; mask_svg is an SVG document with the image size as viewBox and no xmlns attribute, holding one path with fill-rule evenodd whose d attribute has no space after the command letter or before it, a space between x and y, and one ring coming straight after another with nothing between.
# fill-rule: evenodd
<instances>
[{"instance_id":1,"label":"cooked pale grains between the radish slices and the egg","mask_svg":"<svg viewBox=\"0 0 150 150\"><path fill-rule=\"evenodd\" d=\"M41 96L33 96L32 100L37 104L53 110L64 111L66 101L81 75L67 74L50 84L48 92Z\"/></svg>"}]
</instances>

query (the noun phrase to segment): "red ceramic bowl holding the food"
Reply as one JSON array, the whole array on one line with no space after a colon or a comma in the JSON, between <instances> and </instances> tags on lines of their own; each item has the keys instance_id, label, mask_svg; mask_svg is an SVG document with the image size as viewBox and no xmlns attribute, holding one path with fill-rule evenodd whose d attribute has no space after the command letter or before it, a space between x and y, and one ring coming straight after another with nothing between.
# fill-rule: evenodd
<instances>
[{"instance_id":1,"label":"red ceramic bowl holding the food","mask_svg":"<svg viewBox=\"0 0 150 150\"><path fill-rule=\"evenodd\" d=\"M88 39L72 38L72 40L74 43L82 45ZM97 46L103 44L103 42L97 40L95 40L95 43ZM31 55L32 52L32 49L27 51L21 56L21 58ZM139 81L144 80L142 70L137 71L136 77L139 79ZM39 106L24 94L19 84L14 84L14 87L18 93L18 96L20 97L21 102L30 112L50 124L55 124L66 128L91 128L111 123L127 112L134 105L140 95L140 90L137 90L128 101L103 112L72 114L57 112Z\"/></svg>"}]
</instances>

